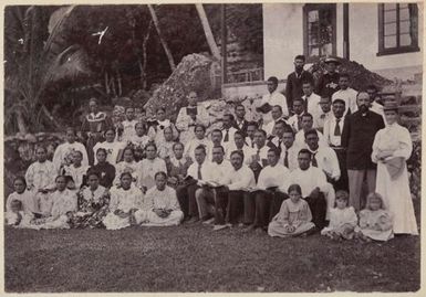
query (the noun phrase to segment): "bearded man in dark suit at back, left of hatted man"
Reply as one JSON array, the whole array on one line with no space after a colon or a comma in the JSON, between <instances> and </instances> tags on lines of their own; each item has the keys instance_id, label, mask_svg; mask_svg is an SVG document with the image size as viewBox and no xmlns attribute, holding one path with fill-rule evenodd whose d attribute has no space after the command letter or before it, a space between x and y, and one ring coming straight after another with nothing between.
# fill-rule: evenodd
<instances>
[{"instance_id":1,"label":"bearded man in dark suit at back, left of hatted man","mask_svg":"<svg viewBox=\"0 0 426 297\"><path fill-rule=\"evenodd\" d=\"M294 57L294 72L287 76L285 98L289 110L293 110L293 99L303 96L302 83L311 82L312 85L314 84L313 75L303 70L304 62L304 55L297 55Z\"/></svg>"}]
</instances>

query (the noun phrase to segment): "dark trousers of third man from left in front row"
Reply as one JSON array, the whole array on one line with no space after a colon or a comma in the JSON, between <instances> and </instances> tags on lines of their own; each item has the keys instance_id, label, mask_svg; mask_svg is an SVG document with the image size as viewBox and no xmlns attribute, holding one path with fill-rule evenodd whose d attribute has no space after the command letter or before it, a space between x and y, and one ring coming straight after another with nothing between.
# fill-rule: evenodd
<instances>
[{"instance_id":1,"label":"dark trousers of third man from left in front row","mask_svg":"<svg viewBox=\"0 0 426 297\"><path fill-rule=\"evenodd\" d=\"M254 221L254 199L245 191L229 191L226 222L238 223L241 214L245 224L251 224Z\"/></svg>"}]
</instances>

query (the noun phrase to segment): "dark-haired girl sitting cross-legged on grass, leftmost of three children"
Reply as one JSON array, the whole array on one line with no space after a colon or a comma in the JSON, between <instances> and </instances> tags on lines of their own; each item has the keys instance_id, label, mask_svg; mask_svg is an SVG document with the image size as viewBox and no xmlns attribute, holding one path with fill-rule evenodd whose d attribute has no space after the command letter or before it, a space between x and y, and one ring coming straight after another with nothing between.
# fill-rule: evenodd
<instances>
[{"instance_id":1,"label":"dark-haired girl sitting cross-legged on grass, leftmost of three children","mask_svg":"<svg viewBox=\"0 0 426 297\"><path fill-rule=\"evenodd\" d=\"M289 237L306 233L315 225L311 222L312 214L308 202L301 199L302 189L291 184L288 190L289 199L281 204L280 212L268 226L270 236Z\"/></svg>"}]
</instances>

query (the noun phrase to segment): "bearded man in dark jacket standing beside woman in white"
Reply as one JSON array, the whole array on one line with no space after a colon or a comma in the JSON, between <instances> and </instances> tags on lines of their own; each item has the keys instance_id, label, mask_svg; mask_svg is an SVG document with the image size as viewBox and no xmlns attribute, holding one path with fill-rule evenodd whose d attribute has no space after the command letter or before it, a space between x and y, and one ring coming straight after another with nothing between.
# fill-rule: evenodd
<instances>
[{"instance_id":1,"label":"bearded man in dark jacket standing beside woman in white","mask_svg":"<svg viewBox=\"0 0 426 297\"><path fill-rule=\"evenodd\" d=\"M368 192L376 187L376 165L372 162L374 136L385 127L383 118L368 110L370 96L360 92L356 96L359 110L345 117L341 145L346 149L346 168L350 190L350 205L360 211L364 203L361 189L366 177Z\"/></svg>"}]
</instances>

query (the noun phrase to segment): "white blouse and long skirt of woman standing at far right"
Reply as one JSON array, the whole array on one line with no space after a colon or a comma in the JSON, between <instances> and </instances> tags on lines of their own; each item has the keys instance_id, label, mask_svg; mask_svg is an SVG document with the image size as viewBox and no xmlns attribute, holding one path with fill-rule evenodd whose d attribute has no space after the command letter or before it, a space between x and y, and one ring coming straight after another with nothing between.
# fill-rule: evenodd
<instances>
[{"instance_id":1,"label":"white blouse and long skirt of woman standing at far right","mask_svg":"<svg viewBox=\"0 0 426 297\"><path fill-rule=\"evenodd\" d=\"M376 192L383 197L386 210L393 214L394 233L417 235L406 163L404 163L402 174L395 180L391 179L385 163L377 160L377 153L381 150L393 151L391 158L403 157L407 160L413 150L408 130L398 124L388 125L378 130L374 137L372 160L377 163Z\"/></svg>"}]
</instances>

